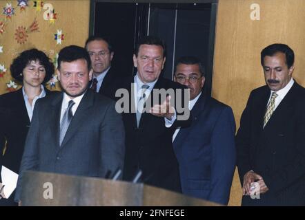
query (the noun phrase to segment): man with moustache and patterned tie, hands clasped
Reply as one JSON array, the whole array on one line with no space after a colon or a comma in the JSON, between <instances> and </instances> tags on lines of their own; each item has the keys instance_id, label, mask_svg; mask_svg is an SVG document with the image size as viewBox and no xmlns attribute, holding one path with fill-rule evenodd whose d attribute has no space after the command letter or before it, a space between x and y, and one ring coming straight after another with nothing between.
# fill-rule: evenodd
<instances>
[{"instance_id":1,"label":"man with moustache and patterned tie, hands clasped","mask_svg":"<svg viewBox=\"0 0 305 220\"><path fill-rule=\"evenodd\" d=\"M305 206L305 89L292 78L294 52L261 52L266 85L250 93L236 136L243 206Z\"/></svg>"}]
</instances>

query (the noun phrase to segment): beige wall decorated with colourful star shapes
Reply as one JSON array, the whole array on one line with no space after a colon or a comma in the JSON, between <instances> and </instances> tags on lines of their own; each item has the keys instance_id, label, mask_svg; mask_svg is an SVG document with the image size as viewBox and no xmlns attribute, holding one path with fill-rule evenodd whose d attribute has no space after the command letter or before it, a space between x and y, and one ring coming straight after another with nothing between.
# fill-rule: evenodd
<instances>
[{"instance_id":1,"label":"beige wall decorated with colourful star shapes","mask_svg":"<svg viewBox=\"0 0 305 220\"><path fill-rule=\"evenodd\" d=\"M6 19L6 16L2 14L6 3L12 3L14 8L15 14L12 15L11 19ZM83 46L88 38L89 0L57 0L43 1L43 3L52 4L55 13L57 13L54 24L43 19L43 14L47 9L41 8L40 11L37 11L37 8L34 7L34 1L28 1L28 7L21 12L20 7L17 6L17 1L0 0L0 23L1 21L6 23L5 32L0 33L0 47L3 46L3 53L0 53L0 65L4 65L7 69L6 74L0 77L0 94L8 92L6 83L11 80L10 64L12 59L23 50L36 47L46 52L53 59L62 47L71 44ZM22 44L18 43L14 35L17 28L21 26L28 28L35 18L37 19L39 32L28 32L27 41ZM57 34L57 30L62 30L62 34L64 34L61 44L57 44L55 40L54 34ZM58 89L58 85L56 89Z\"/></svg>"}]
</instances>

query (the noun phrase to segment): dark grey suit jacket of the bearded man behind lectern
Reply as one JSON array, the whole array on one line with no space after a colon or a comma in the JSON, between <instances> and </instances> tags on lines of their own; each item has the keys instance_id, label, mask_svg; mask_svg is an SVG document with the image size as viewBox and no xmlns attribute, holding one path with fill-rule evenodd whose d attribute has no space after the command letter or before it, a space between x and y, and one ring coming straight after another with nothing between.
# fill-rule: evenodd
<instances>
[{"instance_id":1,"label":"dark grey suit jacket of the bearded man behind lectern","mask_svg":"<svg viewBox=\"0 0 305 220\"><path fill-rule=\"evenodd\" d=\"M15 200L25 170L105 177L124 165L124 124L115 102L88 89L59 146L63 93L35 105L21 162Z\"/></svg>"}]
</instances>

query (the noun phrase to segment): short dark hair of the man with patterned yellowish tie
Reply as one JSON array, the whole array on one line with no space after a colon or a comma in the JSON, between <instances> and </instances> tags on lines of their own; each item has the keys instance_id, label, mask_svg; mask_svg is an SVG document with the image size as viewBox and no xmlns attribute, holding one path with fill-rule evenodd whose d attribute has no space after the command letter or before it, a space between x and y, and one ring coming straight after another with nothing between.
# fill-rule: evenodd
<instances>
[{"instance_id":1,"label":"short dark hair of the man with patterned yellowish tie","mask_svg":"<svg viewBox=\"0 0 305 220\"><path fill-rule=\"evenodd\" d=\"M282 52L286 56L286 65L288 69L295 63L295 53L288 47L286 44L282 43L274 43L272 45L268 45L261 52L261 64L264 67L264 57L265 56L273 56L278 52Z\"/></svg>"}]
</instances>

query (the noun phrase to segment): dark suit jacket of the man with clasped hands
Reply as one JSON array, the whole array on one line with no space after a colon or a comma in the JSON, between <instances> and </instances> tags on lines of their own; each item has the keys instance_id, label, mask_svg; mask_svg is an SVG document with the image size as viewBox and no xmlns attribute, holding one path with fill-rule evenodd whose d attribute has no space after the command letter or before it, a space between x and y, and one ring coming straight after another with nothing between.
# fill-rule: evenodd
<instances>
[{"instance_id":1,"label":"dark suit jacket of the man with clasped hands","mask_svg":"<svg viewBox=\"0 0 305 220\"><path fill-rule=\"evenodd\" d=\"M240 180L254 170L269 190L242 205L305 206L305 89L295 82L263 129L269 96L267 86L251 92L236 137Z\"/></svg>"}]
</instances>

